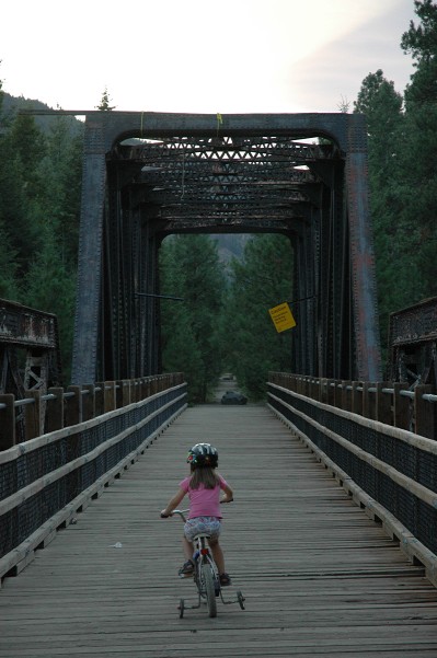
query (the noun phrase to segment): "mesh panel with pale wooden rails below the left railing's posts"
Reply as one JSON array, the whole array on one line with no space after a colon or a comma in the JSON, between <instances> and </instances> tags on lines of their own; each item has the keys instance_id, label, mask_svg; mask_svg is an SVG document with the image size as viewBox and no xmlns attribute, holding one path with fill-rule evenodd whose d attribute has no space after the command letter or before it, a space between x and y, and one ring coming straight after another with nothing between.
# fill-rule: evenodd
<instances>
[{"instance_id":1,"label":"mesh panel with pale wooden rails below the left railing's posts","mask_svg":"<svg viewBox=\"0 0 437 658\"><path fill-rule=\"evenodd\" d=\"M123 470L128 455L185 408L186 384L161 388L150 399L0 453L0 576L14 564L12 551L100 478Z\"/></svg>"}]
</instances>

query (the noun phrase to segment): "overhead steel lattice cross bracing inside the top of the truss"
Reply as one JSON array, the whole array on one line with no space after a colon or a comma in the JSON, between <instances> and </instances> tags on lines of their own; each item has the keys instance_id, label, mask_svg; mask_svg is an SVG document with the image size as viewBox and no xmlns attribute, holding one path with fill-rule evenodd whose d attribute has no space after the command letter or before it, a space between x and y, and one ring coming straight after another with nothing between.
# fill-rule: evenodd
<instances>
[{"instance_id":1,"label":"overhead steel lattice cross bracing inside the top of the truss","mask_svg":"<svg viewBox=\"0 0 437 658\"><path fill-rule=\"evenodd\" d=\"M138 163L131 182L137 198L154 205L154 217L171 221L171 230L177 220L234 227L263 220L271 227L304 218L320 182L309 165L334 157L332 146L273 136L141 141L119 146L117 157Z\"/></svg>"}]
</instances>

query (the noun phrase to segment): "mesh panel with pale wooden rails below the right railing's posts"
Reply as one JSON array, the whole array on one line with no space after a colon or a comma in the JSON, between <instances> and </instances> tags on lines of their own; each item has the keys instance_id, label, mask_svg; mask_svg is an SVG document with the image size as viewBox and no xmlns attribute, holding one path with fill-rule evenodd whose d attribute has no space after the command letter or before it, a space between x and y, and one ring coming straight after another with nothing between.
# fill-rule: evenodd
<instances>
[{"instance_id":1,"label":"mesh panel with pale wooden rails below the right railing's posts","mask_svg":"<svg viewBox=\"0 0 437 658\"><path fill-rule=\"evenodd\" d=\"M299 436L393 515L417 546L437 554L437 442L272 382L268 401Z\"/></svg>"}]
</instances>

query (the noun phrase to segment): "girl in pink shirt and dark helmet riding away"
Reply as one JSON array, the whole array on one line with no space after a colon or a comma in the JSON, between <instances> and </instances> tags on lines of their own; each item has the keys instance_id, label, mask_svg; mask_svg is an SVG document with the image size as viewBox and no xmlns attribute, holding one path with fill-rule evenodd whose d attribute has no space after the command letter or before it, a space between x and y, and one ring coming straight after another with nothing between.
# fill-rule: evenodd
<instances>
[{"instance_id":1,"label":"girl in pink shirt and dark helmet riding away","mask_svg":"<svg viewBox=\"0 0 437 658\"><path fill-rule=\"evenodd\" d=\"M200 533L209 535L209 546L218 568L220 585L231 585L225 570L225 557L219 544L221 531L220 503L231 503L233 493L226 480L215 469L218 466L218 452L210 443L196 443L188 452L187 463L191 475L180 483L179 492L162 510L162 517L171 517L181 500L188 494L189 515L184 526L183 550L186 562L181 567L180 576L189 576L194 572L193 538ZM225 496L220 500L220 492Z\"/></svg>"}]
</instances>

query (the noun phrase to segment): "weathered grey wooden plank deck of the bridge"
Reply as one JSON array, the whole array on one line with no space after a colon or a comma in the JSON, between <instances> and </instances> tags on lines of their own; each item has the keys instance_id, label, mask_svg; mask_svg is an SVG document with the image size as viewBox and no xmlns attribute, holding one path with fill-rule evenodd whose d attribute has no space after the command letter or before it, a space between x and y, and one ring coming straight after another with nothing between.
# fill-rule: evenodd
<instances>
[{"instance_id":1,"label":"weathered grey wooden plank deck of the bridge","mask_svg":"<svg viewBox=\"0 0 437 658\"><path fill-rule=\"evenodd\" d=\"M193 584L159 511L187 449L215 443L235 492L222 544L246 597L177 616ZM120 547L115 547L120 544ZM437 591L267 407L186 411L0 591L0 657L437 656Z\"/></svg>"}]
</instances>

